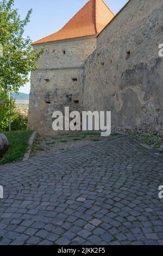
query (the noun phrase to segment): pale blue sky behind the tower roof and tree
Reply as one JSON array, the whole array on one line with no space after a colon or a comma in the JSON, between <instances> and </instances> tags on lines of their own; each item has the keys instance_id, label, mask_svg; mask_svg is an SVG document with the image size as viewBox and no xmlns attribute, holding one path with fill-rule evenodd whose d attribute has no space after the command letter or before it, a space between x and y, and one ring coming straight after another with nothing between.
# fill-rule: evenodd
<instances>
[{"instance_id":1,"label":"pale blue sky behind the tower roof and tree","mask_svg":"<svg viewBox=\"0 0 163 256\"><path fill-rule=\"evenodd\" d=\"M35 41L44 36L57 32L68 20L77 13L88 0L15 0L15 7L22 19L32 8L30 23L24 36L29 35ZM116 14L128 0L105 0L109 8ZM20 89L29 93L30 83Z\"/></svg>"}]
</instances>

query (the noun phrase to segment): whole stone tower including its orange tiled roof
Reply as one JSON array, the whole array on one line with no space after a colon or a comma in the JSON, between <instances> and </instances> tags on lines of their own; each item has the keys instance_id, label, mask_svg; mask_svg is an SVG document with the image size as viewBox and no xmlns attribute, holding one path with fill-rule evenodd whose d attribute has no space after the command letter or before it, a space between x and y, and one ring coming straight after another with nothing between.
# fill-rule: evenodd
<instances>
[{"instance_id":1,"label":"whole stone tower including its orange tiled roof","mask_svg":"<svg viewBox=\"0 0 163 256\"><path fill-rule=\"evenodd\" d=\"M87 57L96 50L96 37L114 17L103 0L89 0L60 31L33 43L45 47L32 72L28 128L54 135L52 114L83 110L83 75Z\"/></svg>"}]
</instances>

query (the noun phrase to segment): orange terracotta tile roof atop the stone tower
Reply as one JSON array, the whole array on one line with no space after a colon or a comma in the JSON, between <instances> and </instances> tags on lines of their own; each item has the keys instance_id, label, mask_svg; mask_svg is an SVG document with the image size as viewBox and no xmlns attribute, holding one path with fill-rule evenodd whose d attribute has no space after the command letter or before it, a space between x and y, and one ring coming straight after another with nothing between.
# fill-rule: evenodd
<instances>
[{"instance_id":1,"label":"orange terracotta tile roof atop the stone tower","mask_svg":"<svg viewBox=\"0 0 163 256\"><path fill-rule=\"evenodd\" d=\"M89 0L60 31L33 44L98 35L114 16L103 0Z\"/></svg>"}]
</instances>

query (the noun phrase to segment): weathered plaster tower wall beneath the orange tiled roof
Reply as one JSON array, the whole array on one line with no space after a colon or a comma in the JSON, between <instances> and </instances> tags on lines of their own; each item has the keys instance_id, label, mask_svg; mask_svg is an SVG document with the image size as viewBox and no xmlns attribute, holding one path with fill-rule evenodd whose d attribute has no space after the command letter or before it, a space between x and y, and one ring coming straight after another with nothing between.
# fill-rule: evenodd
<instances>
[{"instance_id":1,"label":"weathered plaster tower wall beneath the orange tiled roof","mask_svg":"<svg viewBox=\"0 0 163 256\"><path fill-rule=\"evenodd\" d=\"M41 46L34 48L40 50ZM53 135L54 111L64 113L65 106L82 111L84 63L95 48L95 37L45 45L38 69L31 75L29 129Z\"/></svg>"}]
</instances>

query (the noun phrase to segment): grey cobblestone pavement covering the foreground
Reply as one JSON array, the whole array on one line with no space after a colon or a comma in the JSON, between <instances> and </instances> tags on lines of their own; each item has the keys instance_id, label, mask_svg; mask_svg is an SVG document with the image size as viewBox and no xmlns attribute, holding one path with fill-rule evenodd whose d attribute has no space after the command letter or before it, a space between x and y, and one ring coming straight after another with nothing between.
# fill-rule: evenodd
<instances>
[{"instance_id":1,"label":"grey cobblestone pavement covering the foreground","mask_svg":"<svg viewBox=\"0 0 163 256\"><path fill-rule=\"evenodd\" d=\"M162 157L127 137L0 168L0 245L163 245Z\"/></svg>"}]
</instances>

